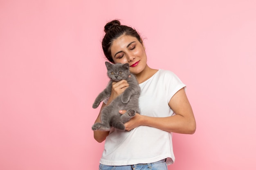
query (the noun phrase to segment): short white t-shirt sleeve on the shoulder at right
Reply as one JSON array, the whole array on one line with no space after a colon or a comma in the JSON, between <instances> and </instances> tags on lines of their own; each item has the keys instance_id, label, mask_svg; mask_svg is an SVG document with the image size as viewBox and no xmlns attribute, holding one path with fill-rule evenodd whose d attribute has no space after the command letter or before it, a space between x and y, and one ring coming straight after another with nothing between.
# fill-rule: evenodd
<instances>
[{"instance_id":1,"label":"short white t-shirt sleeve on the shoulder at right","mask_svg":"<svg viewBox=\"0 0 256 170\"><path fill-rule=\"evenodd\" d=\"M179 77L171 71L166 71L164 74L164 82L166 86L167 101L170 102L171 98L177 91L184 88L186 91L186 85L182 83Z\"/></svg>"}]
</instances>

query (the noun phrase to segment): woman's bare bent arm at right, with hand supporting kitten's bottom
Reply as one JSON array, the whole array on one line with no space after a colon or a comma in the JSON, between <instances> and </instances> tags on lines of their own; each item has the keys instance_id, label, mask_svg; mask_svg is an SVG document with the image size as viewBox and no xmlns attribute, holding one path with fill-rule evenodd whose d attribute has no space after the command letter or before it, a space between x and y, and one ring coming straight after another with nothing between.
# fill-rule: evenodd
<instances>
[{"instance_id":1,"label":"woman's bare bent arm at right, with hand supporting kitten's bottom","mask_svg":"<svg viewBox=\"0 0 256 170\"><path fill-rule=\"evenodd\" d=\"M168 132L193 134L196 129L195 117L184 88L173 95L168 105L176 115L170 117L148 117L136 114L125 124L126 130L145 125Z\"/></svg>"}]
</instances>

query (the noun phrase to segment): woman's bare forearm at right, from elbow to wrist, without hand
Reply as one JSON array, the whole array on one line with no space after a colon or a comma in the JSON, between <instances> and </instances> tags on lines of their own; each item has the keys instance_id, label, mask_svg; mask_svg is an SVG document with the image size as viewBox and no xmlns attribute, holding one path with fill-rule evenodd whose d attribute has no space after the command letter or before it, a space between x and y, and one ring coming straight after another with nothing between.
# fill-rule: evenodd
<instances>
[{"instance_id":1,"label":"woman's bare forearm at right, from elbow to wrist, without hand","mask_svg":"<svg viewBox=\"0 0 256 170\"><path fill-rule=\"evenodd\" d=\"M188 118L182 115L174 115L171 117L141 116L141 125L183 134L193 134L196 128L193 117Z\"/></svg>"}]
</instances>

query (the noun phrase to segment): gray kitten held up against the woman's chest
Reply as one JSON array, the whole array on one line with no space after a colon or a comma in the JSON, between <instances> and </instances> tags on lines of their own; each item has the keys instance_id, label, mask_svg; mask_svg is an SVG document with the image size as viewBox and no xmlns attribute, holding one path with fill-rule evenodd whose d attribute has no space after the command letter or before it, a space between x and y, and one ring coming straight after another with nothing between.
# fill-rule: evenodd
<instances>
[{"instance_id":1,"label":"gray kitten held up against the woman's chest","mask_svg":"<svg viewBox=\"0 0 256 170\"><path fill-rule=\"evenodd\" d=\"M92 108L97 108L103 99L110 97L112 82L119 82L121 79L126 79L129 87L126 88L124 93L115 98L108 106L101 110L101 123L97 122L92 126L92 130L108 131L111 127L119 130L125 130L124 123L130 118L135 116L139 111L139 95L140 88L135 75L129 71L129 64L111 64L105 62L108 77L110 82L108 86L97 96ZM128 77L131 75L131 77ZM119 110L127 110L126 113L121 115Z\"/></svg>"}]
</instances>

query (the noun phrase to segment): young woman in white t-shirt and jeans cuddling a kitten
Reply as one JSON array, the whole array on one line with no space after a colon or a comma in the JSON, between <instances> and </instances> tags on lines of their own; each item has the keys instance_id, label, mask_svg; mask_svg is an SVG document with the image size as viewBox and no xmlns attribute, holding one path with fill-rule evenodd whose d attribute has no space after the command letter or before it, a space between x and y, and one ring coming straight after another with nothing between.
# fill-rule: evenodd
<instances>
[{"instance_id":1,"label":"young woman in white t-shirt and jeans cuddling a kitten","mask_svg":"<svg viewBox=\"0 0 256 170\"><path fill-rule=\"evenodd\" d=\"M171 71L156 70L147 64L143 41L137 31L113 20L105 25L102 48L112 63L129 63L141 88L140 114L135 115L126 131L94 131L94 139L105 141L99 170L167 170L175 161L172 132L193 134L196 124L185 88ZM129 84L122 80L112 84L108 105ZM126 110L120 110L120 114ZM95 122L100 122L100 113Z\"/></svg>"}]
</instances>

